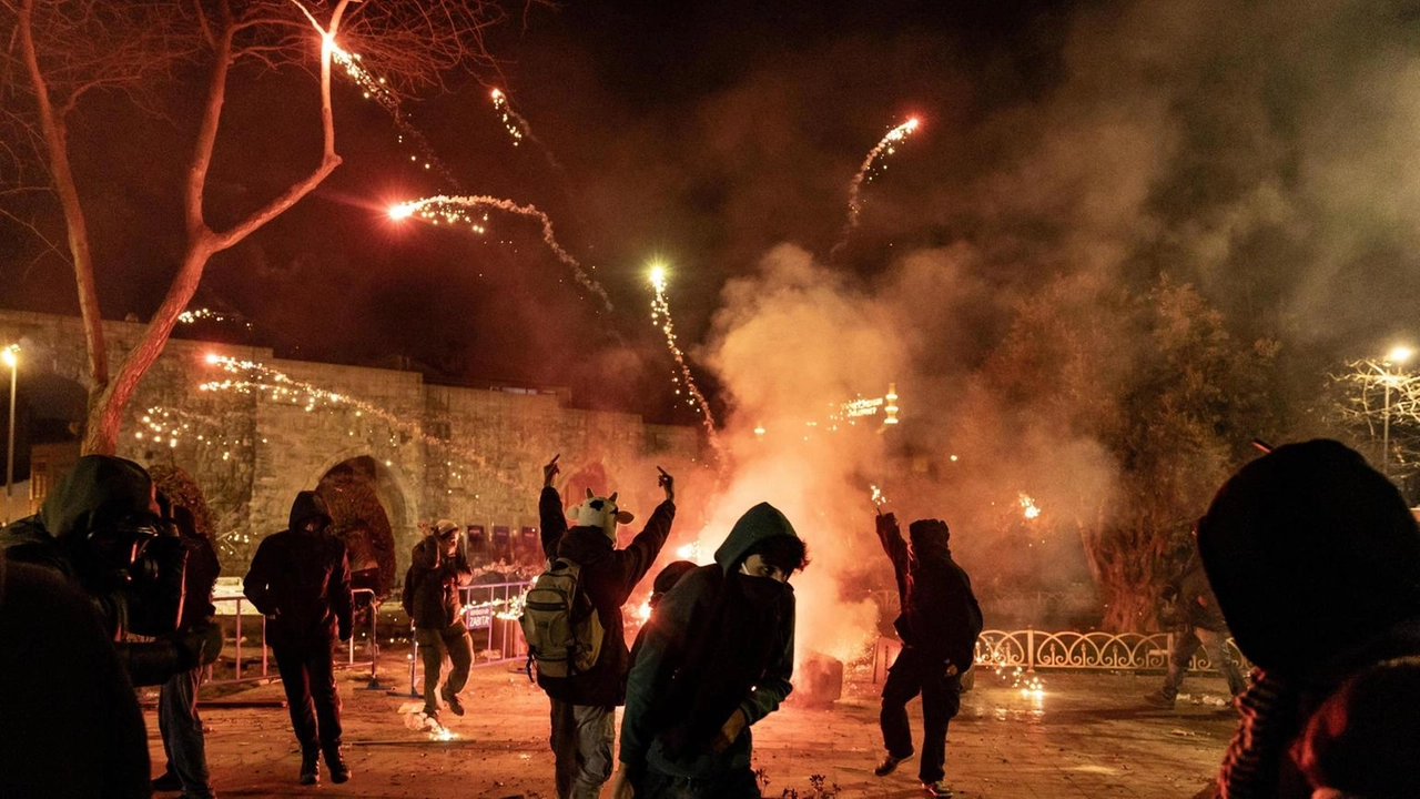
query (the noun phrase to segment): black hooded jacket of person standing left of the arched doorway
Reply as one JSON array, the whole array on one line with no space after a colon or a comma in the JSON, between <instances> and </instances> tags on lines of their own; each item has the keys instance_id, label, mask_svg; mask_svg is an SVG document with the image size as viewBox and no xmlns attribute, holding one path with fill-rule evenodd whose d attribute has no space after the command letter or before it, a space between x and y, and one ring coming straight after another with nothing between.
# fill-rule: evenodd
<instances>
[{"instance_id":1,"label":"black hooded jacket of person standing left of the arched doorway","mask_svg":"<svg viewBox=\"0 0 1420 799\"><path fill-rule=\"evenodd\" d=\"M308 519L322 519L322 530L305 532ZM314 490L291 503L290 527L257 546L243 591L267 620L273 645L302 645L351 637L351 564L345 542L325 530L331 515Z\"/></svg>"}]
</instances>

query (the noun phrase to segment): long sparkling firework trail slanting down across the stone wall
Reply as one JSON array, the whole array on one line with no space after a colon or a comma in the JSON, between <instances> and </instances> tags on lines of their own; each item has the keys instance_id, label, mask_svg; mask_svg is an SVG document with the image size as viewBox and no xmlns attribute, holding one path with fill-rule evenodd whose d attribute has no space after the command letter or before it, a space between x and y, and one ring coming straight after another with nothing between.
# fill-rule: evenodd
<instances>
[{"instance_id":1,"label":"long sparkling firework trail slanting down across the stone wall","mask_svg":"<svg viewBox=\"0 0 1420 799\"><path fill-rule=\"evenodd\" d=\"M467 446L459 446L449 439L430 435L425 432L423 425L417 421L405 421L399 415L381 408L379 405L365 402L364 400L358 400L349 394L328 391L318 385L295 380L280 370L274 370L256 361L244 361L227 355L219 355L216 353L209 353L206 361L212 365L220 367L227 374L234 375L236 380L212 380L197 385L199 391L236 391L240 394L257 392L275 402L300 405L305 412L312 412L318 407L349 408L355 411L356 417L368 415L381 419L392 431L406 434L409 438L423 441L432 446L442 446L449 455L457 456L463 462L473 463L486 475L496 478L508 488L518 490L523 489L517 481L496 469L481 454ZM392 446L398 446L398 441L399 439L396 436L390 436ZM226 454L223 455L223 459L227 459ZM453 462L450 461L449 465L452 463ZM462 478L459 473L452 476Z\"/></svg>"}]
</instances>

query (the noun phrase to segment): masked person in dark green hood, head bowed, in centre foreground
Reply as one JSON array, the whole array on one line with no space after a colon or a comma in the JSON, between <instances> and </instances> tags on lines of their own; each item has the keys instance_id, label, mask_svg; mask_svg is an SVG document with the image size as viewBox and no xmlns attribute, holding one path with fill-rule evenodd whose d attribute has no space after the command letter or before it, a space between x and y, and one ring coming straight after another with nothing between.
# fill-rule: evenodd
<instances>
[{"instance_id":1,"label":"masked person in dark green hood, head bowed, in centre foreground","mask_svg":"<svg viewBox=\"0 0 1420 799\"><path fill-rule=\"evenodd\" d=\"M804 542L772 505L741 516L716 562L684 574L643 630L626 681L612 796L758 798L750 725L794 687Z\"/></svg>"}]
</instances>

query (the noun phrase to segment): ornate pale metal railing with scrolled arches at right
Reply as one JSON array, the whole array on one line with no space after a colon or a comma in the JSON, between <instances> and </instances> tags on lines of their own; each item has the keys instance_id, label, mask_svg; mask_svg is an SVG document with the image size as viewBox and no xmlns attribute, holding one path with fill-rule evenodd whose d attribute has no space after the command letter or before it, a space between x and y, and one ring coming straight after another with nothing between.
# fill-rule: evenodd
<instances>
[{"instance_id":1,"label":"ornate pale metal railing with scrolled arches at right","mask_svg":"<svg viewBox=\"0 0 1420 799\"><path fill-rule=\"evenodd\" d=\"M1020 667L1027 671L1041 668L1069 668L1096 671L1163 671L1169 667L1174 633L1076 633L1065 630L984 630L977 640L976 661L994 667ZM1227 640L1228 654L1244 670L1247 658L1233 638ZM1213 671L1207 651L1200 648L1189 663L1193 671Z\"/></svg>"}]
</instances>

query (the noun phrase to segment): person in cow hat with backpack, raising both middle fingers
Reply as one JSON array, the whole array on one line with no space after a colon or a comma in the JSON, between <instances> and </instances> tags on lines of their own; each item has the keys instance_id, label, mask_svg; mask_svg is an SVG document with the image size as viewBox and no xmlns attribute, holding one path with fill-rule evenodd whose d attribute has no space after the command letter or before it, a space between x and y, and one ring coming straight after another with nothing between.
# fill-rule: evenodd
<instances>
[{"instance_id":1,"label":"person in cow hat with backpack, raising both middle fingers","mask_svg":"<svg viewBox=\"0 0 1420 799\"><path fill-rule=\"evenodd\" d=\"M676 518L674 478L657 466L656 483L666 499L652 512L646 527L625 549L616 549L616 525L630 523L632 515L616 508L616 493L601 498L588 489L586 500L572 509L577 525L568 527L562 498L552 488L552 478L561 471L557 459L542 466L538 499L550 570L528 593L523 628L530 657L538 664L538 685L552 704L557 795L592 799L612 773L615 711L626 695L629 651L622 606L670 536ZM541 594L550 599L562 594L562 601L538 601ZM559 613L558 604L568 613ZM554 644L559 633L578 640Z\"/></svg>"}]
</instances>

